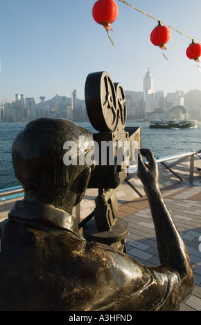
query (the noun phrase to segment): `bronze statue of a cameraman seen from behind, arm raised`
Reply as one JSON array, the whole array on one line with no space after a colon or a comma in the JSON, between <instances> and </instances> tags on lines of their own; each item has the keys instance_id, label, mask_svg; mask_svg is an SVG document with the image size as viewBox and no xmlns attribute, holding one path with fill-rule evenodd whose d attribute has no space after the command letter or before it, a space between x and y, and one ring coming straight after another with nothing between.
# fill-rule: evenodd
<instances>
[{"instance_id":1,"label":"bronze statue of a cameraman seen from behind, arm raised","mask_svg":"<svg viewBox=\"0 0 201 325\"><path fill-rule=\"evenodd\" d=\"M77 143L79 136L93 140L73 122L41 118L13 142L13 166L25 195L1 223L0 310L178 310L193 290L193 271L161 197L152 153L140 150L138 173L155 223L158 267L80 237L71 213L92 165L63 162L64 142Z\"/></svg>"}]
</instances>

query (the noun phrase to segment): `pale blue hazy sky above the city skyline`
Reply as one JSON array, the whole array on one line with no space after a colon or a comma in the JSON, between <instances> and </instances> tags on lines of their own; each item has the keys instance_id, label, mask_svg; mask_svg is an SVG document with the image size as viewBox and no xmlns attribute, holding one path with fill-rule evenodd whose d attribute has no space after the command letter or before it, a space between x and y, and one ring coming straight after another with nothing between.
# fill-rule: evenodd
<instances>
[{"instance_id":1,"label":"pale blue hazy sky above the city skyline","mask_svg":"<svg viewBox=\"0 0 201 325\"><path fill-rule=\"evenodd\" d=\"M85 98L89 73L107 71L123 89L143 91L148 68L154 90L201 90L201 72L186 57L191 39L171 30L162 50L150 42L157 21L119 0L112 46L91 11L96 0L0 0L0 102L15 93L46 100L58 95ZM128 0L133 6L201 41L200 0Z\"/></svg>"}]
</instances>

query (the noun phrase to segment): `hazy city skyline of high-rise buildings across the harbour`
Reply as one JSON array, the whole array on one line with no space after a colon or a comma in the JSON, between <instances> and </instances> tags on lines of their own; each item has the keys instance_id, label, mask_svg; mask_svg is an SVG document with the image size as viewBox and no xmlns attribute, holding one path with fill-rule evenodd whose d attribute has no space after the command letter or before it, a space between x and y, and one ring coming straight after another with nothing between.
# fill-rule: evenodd
<instances>
[{"instance_id":1,"label":"hazy city skyline of high-rise buildings across the harbour","mask_svg":"<svg viewBox=\"0 0 201 325\"><path fill-rule=\"evenodd\" d=\"M154 77L148 68L143 77L143 92L126 91L125 101L127 106L127 120L148 120L150 116L161 111L174 109L173 115L193 116L200 120L201 116L201 91L177 90L174 93L164 93L163 90L154 91ZM185 97L186 105L185 106ZM193 100L192 100L193 98ZM71 92L71 97L55 94L51 99L40 96L37 103L34 97L24 94L15 94L15 100L0 105L0 122L33 120L40 117L60 117L78 121L87 121L87 108L85 100L77 98L76 89ZM185 114L184 114L185 113Z\"/></svg>"}]
</instances>

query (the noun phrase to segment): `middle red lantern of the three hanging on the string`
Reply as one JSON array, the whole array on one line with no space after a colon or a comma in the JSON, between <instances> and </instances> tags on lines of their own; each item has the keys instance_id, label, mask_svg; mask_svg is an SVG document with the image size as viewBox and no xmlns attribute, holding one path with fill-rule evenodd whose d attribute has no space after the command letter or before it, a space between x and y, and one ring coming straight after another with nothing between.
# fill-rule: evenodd
<instances>
[{"instance_id":1,"label":"middle red lantern of the three hanging on the string","mask_svg":"<svg viewBox=\"0 0 201 325\"><path fill-rule=\"evenodd\" d=\"M155 46L159 46L163 50L166 50L165 44L171 39L171 30L166 26L161 26L160 22L150 35L150 41Z\"/></svg>"}]
</instances>

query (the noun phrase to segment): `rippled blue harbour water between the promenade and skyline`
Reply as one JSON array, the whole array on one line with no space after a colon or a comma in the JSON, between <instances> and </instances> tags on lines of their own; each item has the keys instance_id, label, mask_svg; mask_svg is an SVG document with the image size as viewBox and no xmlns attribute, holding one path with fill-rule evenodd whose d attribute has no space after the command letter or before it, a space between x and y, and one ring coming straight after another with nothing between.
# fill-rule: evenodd
<instances>
[{"instance_id":1,"label":"rippled blue harbour water between the promenade and skyline","mask_svg":"<svg viewBox=\"0 0 201 325\"><path fill-rule=\"evenodd\" d=\"M97 132L90 123L79 123ZM0 123L0 189L20 185L12 167L12 141L26 123ZM191 129L150 129L149 123L128 122L128 127L141 127L142 147L149 148L155 158L201 149L201 122Z\"/></svg>"}]
</instances>

